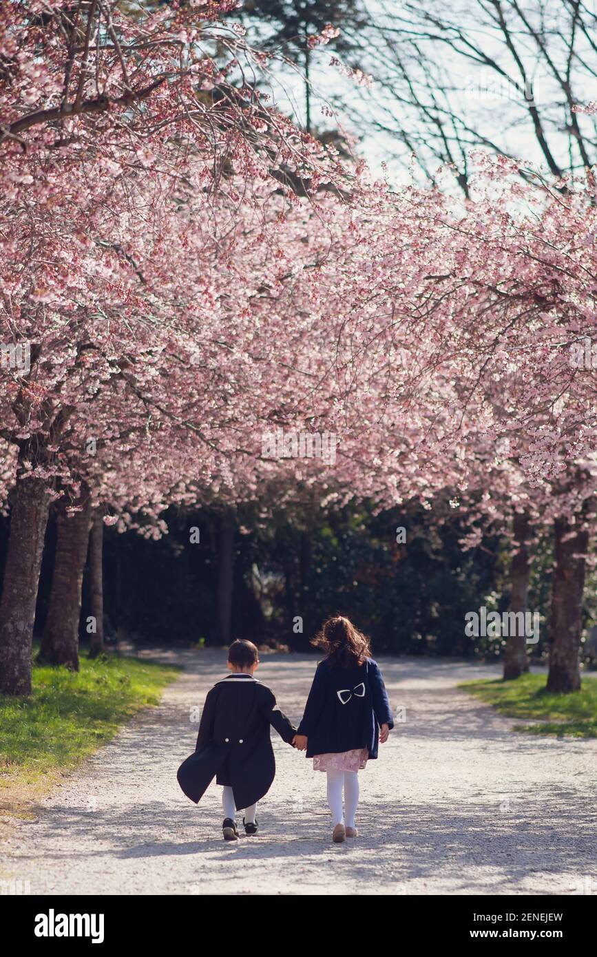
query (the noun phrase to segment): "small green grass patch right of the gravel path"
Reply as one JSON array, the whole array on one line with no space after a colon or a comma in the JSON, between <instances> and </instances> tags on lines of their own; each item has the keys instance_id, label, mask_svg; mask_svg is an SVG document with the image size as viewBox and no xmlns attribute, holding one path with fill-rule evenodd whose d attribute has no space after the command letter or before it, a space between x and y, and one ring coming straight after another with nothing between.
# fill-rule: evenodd
<instances>
[{"instance_id":1,"label":"small green grass patch right of the gravel path","mask_svg":"<svg viewBox=\"0 0 597 957\"><path fill-rule=\"evenodd\" d=\"M515 724L515 731L597 738L597 678L584 677L581 690L570 695L548 693L545 681L545 674L522 675L512 681L465 681L459 687L508 718L540 722Z\"/></svg>"}]
</instances>

